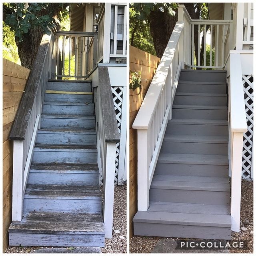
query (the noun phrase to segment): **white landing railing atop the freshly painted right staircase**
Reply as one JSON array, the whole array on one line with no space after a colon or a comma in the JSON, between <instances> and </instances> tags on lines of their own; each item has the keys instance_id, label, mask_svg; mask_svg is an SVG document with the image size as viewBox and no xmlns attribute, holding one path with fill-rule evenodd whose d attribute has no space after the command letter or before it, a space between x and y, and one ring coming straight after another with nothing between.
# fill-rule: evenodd
<instances>
[{"instance_id":1,"label":"white landing railing atop the freshly painted right staircase","mask_svg":"<svg viewBox=\"0 0 256 256\"><path fill-rule=\"evenodd\" d=\"M226 33L232 20L192 20L185 6L180 5L178 21L184 22L185 66L223 68L226 60L224 55ZM197 40L194 40L195 37ZM210 56L206 55L206 39L210 41Z\"/></svg>"}]
</instances>

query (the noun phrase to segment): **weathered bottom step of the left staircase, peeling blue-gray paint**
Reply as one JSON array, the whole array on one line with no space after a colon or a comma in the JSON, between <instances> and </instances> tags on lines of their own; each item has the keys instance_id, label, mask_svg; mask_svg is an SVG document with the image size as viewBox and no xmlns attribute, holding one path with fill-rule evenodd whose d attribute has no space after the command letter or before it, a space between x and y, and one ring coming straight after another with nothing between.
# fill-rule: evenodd
<instances>
[{"instance_id":1,"label":"weathered bottom step of the left staircase, peeling blue-gray paint","mask_svg":"<svg viewBox=\"0 0 256 256\"><path fill-rule=\"evenodd\" d=\"M29 212L9 228L10 246L104 247L101 214Z\"/></svg>"}]
</instances>

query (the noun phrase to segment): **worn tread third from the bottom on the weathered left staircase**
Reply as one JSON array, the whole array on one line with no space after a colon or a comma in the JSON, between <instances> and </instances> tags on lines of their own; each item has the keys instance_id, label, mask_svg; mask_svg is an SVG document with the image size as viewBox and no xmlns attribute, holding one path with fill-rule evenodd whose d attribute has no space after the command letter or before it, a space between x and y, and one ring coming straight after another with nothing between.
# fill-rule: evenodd
<instances>
[{"instance_id":1,"label":"worn tread third from the bottom on the weathered left staircase","mask_svg":"<svg viewBox=\"0 0 256 256\"><path fill-rule=\"evenodd\" d=\"M30 166L30 172L90 172L90 173L98 173L99 168L98 164L36 164L32 163Z\"/></svg>"}]
</instances>

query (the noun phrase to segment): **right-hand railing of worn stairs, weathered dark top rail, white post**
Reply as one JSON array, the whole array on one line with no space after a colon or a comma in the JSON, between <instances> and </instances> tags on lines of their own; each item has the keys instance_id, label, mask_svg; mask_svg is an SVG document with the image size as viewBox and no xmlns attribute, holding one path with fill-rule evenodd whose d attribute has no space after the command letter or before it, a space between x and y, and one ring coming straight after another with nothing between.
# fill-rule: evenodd
<instances>
[{"instance_id":1,"label":"right-hand railing of worn stairs, weathered dark top rail, white post","mask_svg":"<svg viewBox=\"0 0 256 256\"><path fill-rule=\"evenodd\" d=\"M98 166L102 170L104 184L103 219L105 238L112 238L116 143L120 142L120 135L108 67L99 66L98 74L98 87L94 88Z\"/></svg>"}]
</instances>

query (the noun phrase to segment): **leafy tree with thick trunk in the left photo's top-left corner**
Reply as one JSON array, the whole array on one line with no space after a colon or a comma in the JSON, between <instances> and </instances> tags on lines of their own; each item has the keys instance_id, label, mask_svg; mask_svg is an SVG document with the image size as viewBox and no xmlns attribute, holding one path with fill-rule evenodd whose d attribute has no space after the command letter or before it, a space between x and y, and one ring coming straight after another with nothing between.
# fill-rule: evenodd
<instances>
[{"instance_id":1,"label":"leafy tree with thick trunk in the left photo's top-left corner","mask_svg":"<svg viewBox=\"0 0 256 256\"><path fill-rule=\"evenodd\" d=\"M43 34L66 17L68 3L4 3L3 21L14 32L22 66L32 68Z\"/></svg>"}]
</instances>

